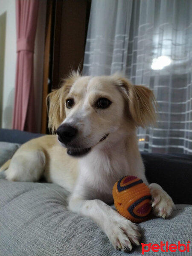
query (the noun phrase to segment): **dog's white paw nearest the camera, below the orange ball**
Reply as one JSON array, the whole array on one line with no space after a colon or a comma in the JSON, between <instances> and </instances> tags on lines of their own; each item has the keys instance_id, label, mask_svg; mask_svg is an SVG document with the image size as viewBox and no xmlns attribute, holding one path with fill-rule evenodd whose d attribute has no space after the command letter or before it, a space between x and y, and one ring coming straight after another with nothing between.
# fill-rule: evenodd
<instances>
[{"instance_id":1,"label":"dog's white paw nearest the camera, below the orange ball","mask_svg":"<svg viewBox=\"0 0 192 256\"><path fill-rule=\"evenodd\" d=\"M106 233L113 247L117 250L128 252L132 250L134 245L140 245L139 227L121 215L109 222Z\"/></svg>"}]
</instances>

